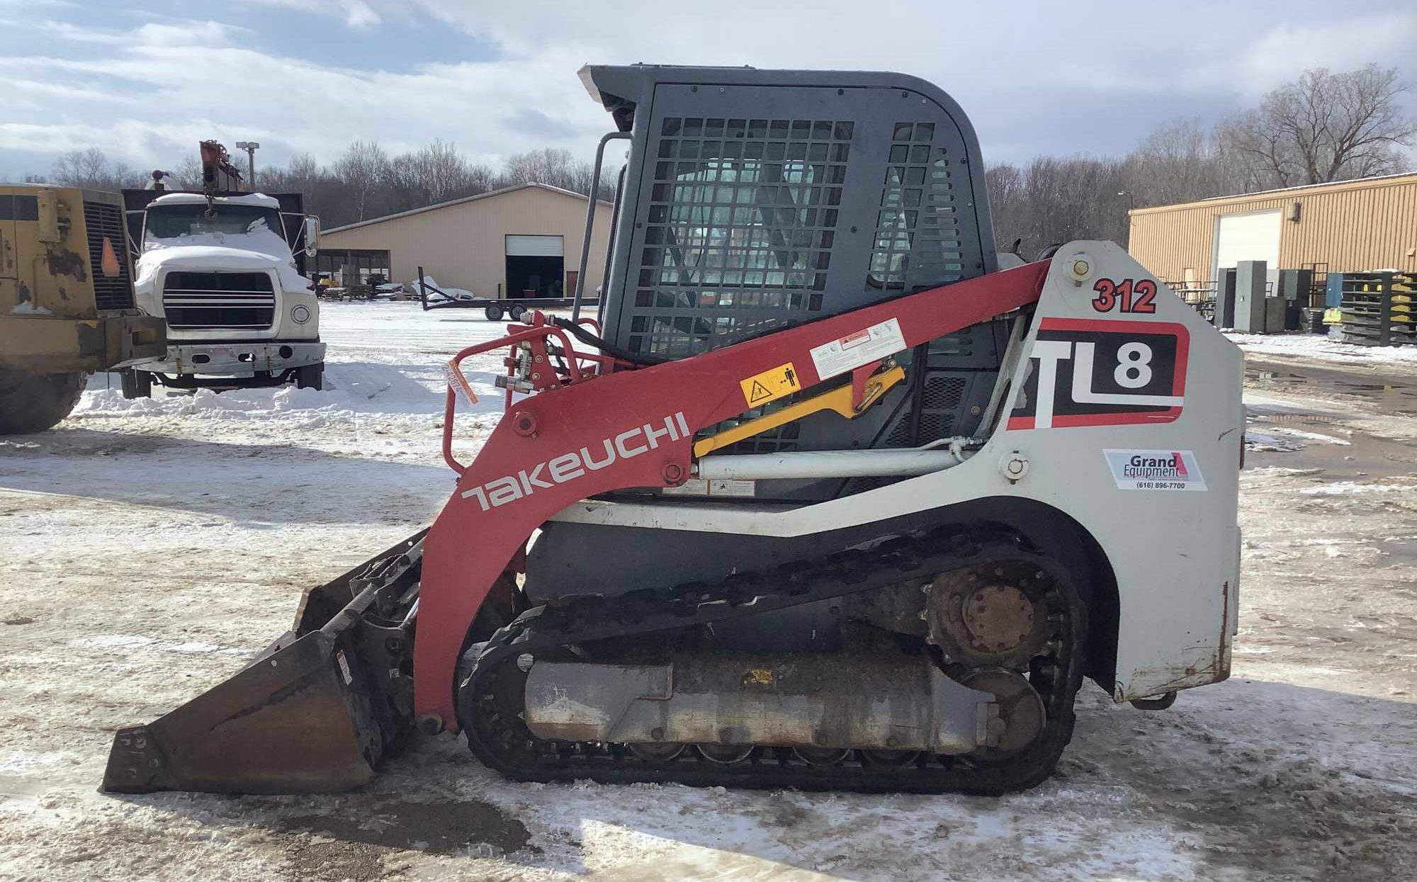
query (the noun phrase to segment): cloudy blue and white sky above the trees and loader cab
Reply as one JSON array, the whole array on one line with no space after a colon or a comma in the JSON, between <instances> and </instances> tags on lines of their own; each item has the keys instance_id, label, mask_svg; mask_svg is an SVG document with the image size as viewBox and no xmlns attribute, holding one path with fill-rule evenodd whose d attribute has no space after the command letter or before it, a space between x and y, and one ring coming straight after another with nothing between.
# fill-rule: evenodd
<instances>
[{"instance_id":1,"label":"cloudy blue and white sky above the trees and loader cab","mask_svg":"<svg viewBox=\"0 0 1417 882\"><path fill-rule=\"evenodd\" d=\"M965 108L990 160L1121 152L1308 67L1397 67L1411 0L0 0L0 179L98 146L176 167L196 143L333 160L432 138L475 159L589 156L584 62L896 69ZM1407 95L1417 115L1417 92Z\"/></svg>"}]
</instances>

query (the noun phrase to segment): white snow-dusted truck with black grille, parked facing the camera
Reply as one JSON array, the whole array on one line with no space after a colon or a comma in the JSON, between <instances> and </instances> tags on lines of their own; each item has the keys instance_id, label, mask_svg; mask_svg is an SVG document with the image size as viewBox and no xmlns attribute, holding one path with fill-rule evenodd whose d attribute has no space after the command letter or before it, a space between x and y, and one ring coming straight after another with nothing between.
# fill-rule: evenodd
<instances>
[{"instance_id":1,"label":"white snow-dusted truck with black grille, parked facing the camera","mask_svg":"<svg viewBox=\"0 0 1417 882\"><path fill-rule=\"evenodd\" d=\"M122 372L123 396L295 381L320 389L324 343L315 285L302 274L319 218L295 193L125 190L137 255L135 294L167 320L167 353Z\"/></svg>"}]
</instances>

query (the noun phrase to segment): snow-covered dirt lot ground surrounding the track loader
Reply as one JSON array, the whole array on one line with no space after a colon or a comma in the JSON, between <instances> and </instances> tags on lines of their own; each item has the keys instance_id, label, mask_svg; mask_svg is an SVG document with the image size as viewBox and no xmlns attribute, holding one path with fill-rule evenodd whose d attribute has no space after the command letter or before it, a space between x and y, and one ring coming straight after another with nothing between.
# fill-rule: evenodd
<instances>
[{"instance_id":1,"label":"snow-covered dirt lot ground surrounding the track loader","mask_svg":"<svg viewBox=\"0 0 1417 882\"><path fill-rule=\"evenodd\" d=\"M116 727L230 675L302 587L452 489L439 364L500 326L323 309L326 391L126 403L98 377L57 430L0 440L0 879L1413 878L1411 420L1267 383L1250 396L1231 679L1163 713L1090 688L1060 774L1033 791L517 784L444 737L351 794L98 794ZM459 417L465 454L500 408L497 356L473 367L486 394Z\"/></svg>"}]
</instances>

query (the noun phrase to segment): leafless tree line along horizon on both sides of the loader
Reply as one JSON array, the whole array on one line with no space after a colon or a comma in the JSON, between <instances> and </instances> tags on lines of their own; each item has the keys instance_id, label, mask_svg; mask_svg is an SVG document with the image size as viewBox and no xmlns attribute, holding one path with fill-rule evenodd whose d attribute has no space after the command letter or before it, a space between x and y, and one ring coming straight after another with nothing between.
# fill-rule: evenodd
<instances>
[{"instance_id":1,"label":"leafless tree line along horizon on both sides of the loader","mask_svg":"<svg viewBox=\"0 0 1417 882\"><path fill-rule=\"evenodd\" d=\"M1417 143L1417 123L1400 106L1406 91L1396 69L1376 64L1316 68L1214 126L1165 123L1125 156L990 164L985 184L996 240L1000 248L1017 240L1030 258L1074 238L1125 245L1131 208L1406 172L1411 162L1404 147ZM244 164L239 156L237 164ZM196 150L171 172L179 186L200 187ZM88 149L60 156L50 180L118 189L140 187L149 174ZM533 150L493 169L441 140L393 156L373 140L357 140L329 166L307 153L285 166L256 164L258 189L305 193L307 210L326 227L517 183L588 193L592 174L592 163L568 150ZM604 199L612 196L614 179L612 170L602 173Z\"/></svg>"}]
</instances>

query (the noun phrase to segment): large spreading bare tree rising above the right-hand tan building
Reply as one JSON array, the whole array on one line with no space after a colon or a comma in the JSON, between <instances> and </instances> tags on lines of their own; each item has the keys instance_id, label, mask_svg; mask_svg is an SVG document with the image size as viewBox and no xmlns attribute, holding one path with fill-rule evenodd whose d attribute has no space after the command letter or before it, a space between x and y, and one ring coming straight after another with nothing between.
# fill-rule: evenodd
<instances>
[{"instance_id":1,"label":"large spreading bare tree rising above the right-hand tan building","mask_svg":"<svg viewBox=\"0 0 1417 882\"><path fill-rule=\"evenodd\" d=\"M1401 147L1417 142L1417 123L1397 101L1406 91L1394 68L1315 68L1227 122L1221 138L1270 186L1403 172Z\"/></svg>"}]
</instances>

